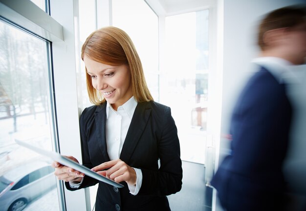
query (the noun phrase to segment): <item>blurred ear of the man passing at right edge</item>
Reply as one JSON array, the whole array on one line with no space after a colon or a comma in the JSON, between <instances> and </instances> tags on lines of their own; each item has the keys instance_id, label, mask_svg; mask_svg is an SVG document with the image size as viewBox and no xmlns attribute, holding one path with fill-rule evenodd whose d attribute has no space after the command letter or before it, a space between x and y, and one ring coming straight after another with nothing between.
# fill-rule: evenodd
<instances>
[{"instance_id":1,"label":"blurred ear of the man passing at right edge","mask_svg":"<svg viewBox=\"0 0 306 211\"><path fill-rule=\"evenodd\" d=\"M264 45L267 48L280 45L285 39L286 31L287 28L278 28L266 31L262 37Z\"/></svg>"}]
</instances>

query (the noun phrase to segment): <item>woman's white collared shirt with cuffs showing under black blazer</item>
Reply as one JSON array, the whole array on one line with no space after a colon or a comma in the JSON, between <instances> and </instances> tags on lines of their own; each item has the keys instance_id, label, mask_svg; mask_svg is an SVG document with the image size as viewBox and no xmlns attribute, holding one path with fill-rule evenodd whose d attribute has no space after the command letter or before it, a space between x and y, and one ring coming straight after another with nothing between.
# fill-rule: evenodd
<instances>
[{"instance_id":1,"label":"woman's white collared shirt with cuffs showing under black blazer","mask_svg":"<svg viewBox=\"0 0 306 211\"><path fill-rule=\"evenodd\" d=\"M115 111L107 102L106 105L106 145L110 160L120 158L121 150L127 136L131 120L137 106L137 101L132 96L125 104L119 106ZM128 185L130 193L136 195L142 184L141 169L133 168L136 171L136 185ZM69 183L71 188L78 188L83 182L74 184Z\"/></svg>"}]
</instances>

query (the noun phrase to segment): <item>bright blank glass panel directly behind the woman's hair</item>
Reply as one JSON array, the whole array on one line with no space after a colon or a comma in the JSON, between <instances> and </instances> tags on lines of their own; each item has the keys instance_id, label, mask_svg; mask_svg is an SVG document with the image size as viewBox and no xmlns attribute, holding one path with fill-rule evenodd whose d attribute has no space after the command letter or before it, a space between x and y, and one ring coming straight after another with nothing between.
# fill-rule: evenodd
<instances>
[{"instance_id":1,"label":"bright blank glass panel directly behind the woman's hair","mask_svg":"<svg viewBox=\"0 0 306 211\"><path fill-rule=\"evenodd\" d=\"M150 92L159 101L158 17L144 0L112 0L112 23L131 37Z\"/></svg>"}]
</instances>

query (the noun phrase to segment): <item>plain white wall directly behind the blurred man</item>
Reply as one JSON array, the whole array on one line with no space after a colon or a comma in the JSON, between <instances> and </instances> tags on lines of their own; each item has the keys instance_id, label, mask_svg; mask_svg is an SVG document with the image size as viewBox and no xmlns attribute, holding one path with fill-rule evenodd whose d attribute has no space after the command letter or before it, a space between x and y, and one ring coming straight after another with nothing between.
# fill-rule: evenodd
<instances>
[{"instance_id":1,"label":"plain white wall directly behind the blurred man","mask_svg":"<svg viewBox=\"0 0 306 211\"><path fill-rule=\"evenodd\" d=\"M251 60L257 56L256 27L262 16L271 10L305 0L219 0L222 4L218 17L223 20L223 55L222 58L222 103L221 103L221 138L220 148L216 155L216 167L222 161L228 149L229 141L223 138L228 133L229 121L233 106L240 89L254 71ZM222 22L222 21L221 21ZM221 52L222 53L222 52ZM219 161L219 162L218 162ZM216 170L215 170L216 171ZM214 197L216 195L214 194ZM213 211L220 210L213 203Z\"/></svg>"}]
</instances>

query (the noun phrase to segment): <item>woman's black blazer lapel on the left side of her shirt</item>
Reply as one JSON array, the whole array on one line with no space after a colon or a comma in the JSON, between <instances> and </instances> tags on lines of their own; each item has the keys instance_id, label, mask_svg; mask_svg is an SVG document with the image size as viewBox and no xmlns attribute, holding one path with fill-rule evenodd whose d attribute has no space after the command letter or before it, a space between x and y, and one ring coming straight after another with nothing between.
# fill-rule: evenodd
<instances>
[{"instance_id":1,"label":"woman's black blazer lapel on the left side of her shirt","mask_svg":"<svg viewBox=\"0 0 306 211\"><path fill-rule=\"evenodd\" d=\"M106 145L106 102L98 106L95 111L96 130L97 130L97 143L102 152L102 157L105 161L109 161L109 154Z\"/></svg>"}]
</instances>

